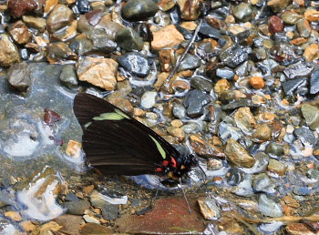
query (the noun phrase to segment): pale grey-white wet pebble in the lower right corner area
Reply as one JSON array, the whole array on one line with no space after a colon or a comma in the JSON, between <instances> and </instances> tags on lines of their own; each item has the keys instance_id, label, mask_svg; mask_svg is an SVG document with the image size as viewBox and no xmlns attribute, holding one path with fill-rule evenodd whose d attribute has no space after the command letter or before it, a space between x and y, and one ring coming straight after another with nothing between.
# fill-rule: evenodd
<instances>
[{"instance_id":1,"label":"pale grey-white wet pebble in the lower right corner area","mask_svg":"<svg viewBox=\"0 0 319 235\"><path fill-rule=\"evenodd\" d=\"M258 207L265 216L273 218L283 216L282 207L274 202L273 199L269 199L265 194L261 194L259 197Z\"/></svg>"}]
</instances>

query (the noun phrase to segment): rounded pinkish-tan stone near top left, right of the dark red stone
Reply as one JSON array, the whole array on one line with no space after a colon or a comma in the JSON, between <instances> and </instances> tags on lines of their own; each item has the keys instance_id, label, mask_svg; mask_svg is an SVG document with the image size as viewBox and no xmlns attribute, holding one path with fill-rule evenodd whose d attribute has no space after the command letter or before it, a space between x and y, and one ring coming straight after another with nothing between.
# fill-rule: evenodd
<instances>
[{"instance_id":1,"label":"rounded pinkish-tan stone near top left, right of the dark red stone","mask_svg":"<svg viewBox=\"0 0 319 235\"><path fill-rule=\"evenodd\" d=\"M46 19L47 31L54 33L73 21L73 11L67 5L56 5Z\"/></svg>"}]
</instances>

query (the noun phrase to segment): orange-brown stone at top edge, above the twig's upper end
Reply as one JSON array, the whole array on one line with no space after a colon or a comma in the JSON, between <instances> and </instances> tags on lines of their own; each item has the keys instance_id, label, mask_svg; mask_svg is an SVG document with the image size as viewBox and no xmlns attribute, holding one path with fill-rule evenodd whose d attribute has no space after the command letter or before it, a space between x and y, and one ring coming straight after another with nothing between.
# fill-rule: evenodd
<instances>
[{"instance_id":1,"label":"orange-brown stone at top edge, above the twig's upper end","mask_svg":"<svg viewBox=\"0 0 319 235\"><path fill-rule=\"evenodd\" d=\"M177 0L177 4L184 20L196 20L201 14L201 0Z\"/></svg>"}]
</instances>

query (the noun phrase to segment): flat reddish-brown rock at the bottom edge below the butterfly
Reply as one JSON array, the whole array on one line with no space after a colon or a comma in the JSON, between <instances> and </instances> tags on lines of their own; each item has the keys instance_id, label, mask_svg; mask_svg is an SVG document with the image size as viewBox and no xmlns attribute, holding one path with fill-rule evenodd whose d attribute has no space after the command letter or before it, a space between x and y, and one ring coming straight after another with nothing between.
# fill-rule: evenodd
<instances>
[{"instance_id":1,"label":"flat reddish-brown rock at the bottom edge below the butterfly","mask_svg":"<svg viewBox=\"0 0 319 235\"><path fill-rule=\"evenodd\" d=\"M143 234L202 232L205 230L205 220L198 214L196 200L188 199L191 213L182 197L158 199L153 209L145 215L124 215L116 220L118 232Z\"/></svg>"}]
</instances>

